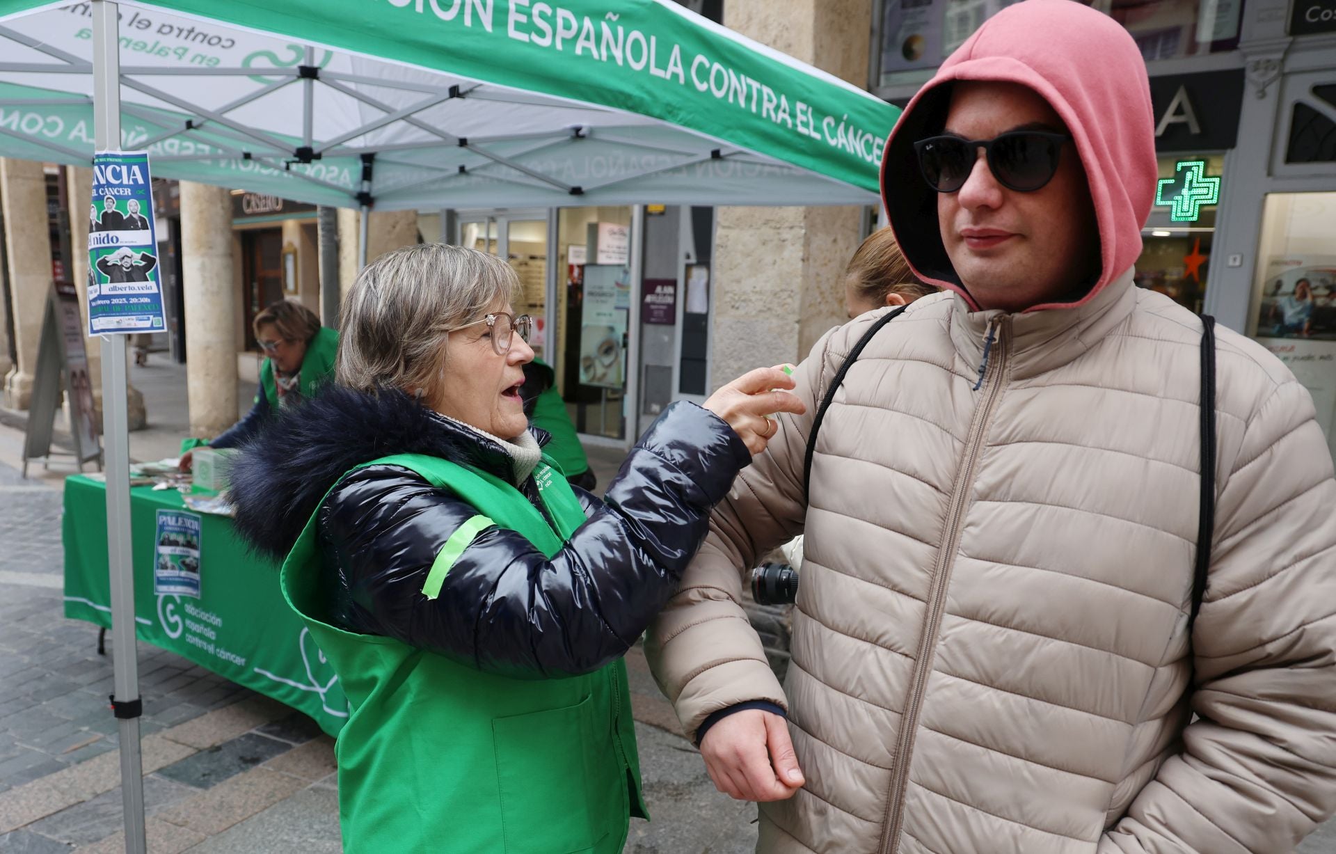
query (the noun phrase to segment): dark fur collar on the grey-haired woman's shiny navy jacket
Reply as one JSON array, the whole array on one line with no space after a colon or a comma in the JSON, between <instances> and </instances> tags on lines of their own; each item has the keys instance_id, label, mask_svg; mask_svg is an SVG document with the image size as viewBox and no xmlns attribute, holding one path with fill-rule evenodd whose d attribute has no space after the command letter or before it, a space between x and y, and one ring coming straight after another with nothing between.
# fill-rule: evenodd
<instances>
[{"instance_id":1,"label":"dark fur collar on the grey-haired woman's shiny navy jacket","mask_svg":"<svg viewBox=\"0 0 1336 854\"><path fill-rule=\"evenodd\" d=\"M533 430L540 444L548 436ZM236 532L282 559L325 493L354 465L395 453L464 462L514 481L510 454L397 389L366 394L326 386L282 410L242 445L231 468Z\"/></svg>"}]
</instances>

